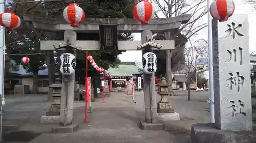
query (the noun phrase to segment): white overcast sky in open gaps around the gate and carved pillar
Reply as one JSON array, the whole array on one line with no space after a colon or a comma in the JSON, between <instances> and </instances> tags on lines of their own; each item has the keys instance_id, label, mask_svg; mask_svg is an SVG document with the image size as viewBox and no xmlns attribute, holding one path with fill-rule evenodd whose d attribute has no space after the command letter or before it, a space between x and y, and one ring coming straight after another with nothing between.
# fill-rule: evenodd
<instances>
[{"instance_id":1,"label":"white overcast sky in open gaps around the gate and carved pillar","mask_svg":"<svg viewBox=\"0 0 256 143\"><path fill-rule=\"evenodd\" d=\"M248 4L243 4L241 0L233 0L235 3L235 11L234 13L238 14L248 14L249 16L249 45L250 45L250 51L256 51L256 36L253 35L253 32L256 32L256 11L253 11L252 7ZM161 15L160 15L161 16ZM164 17L162 17L164 18ZM205 21L207 21L207 15L203 17ZM135 40L141 40L140 39L140 33L135 33L134 34ZM207 28L204 30L200 31L200 36L194 37L195 39L208 39L207 37ZM135 62L137 61L142 61L142 54L141 51L126 51L123 52L122 54L118 55L119 59L122 62Z\"/></svg>"}]
</instances>

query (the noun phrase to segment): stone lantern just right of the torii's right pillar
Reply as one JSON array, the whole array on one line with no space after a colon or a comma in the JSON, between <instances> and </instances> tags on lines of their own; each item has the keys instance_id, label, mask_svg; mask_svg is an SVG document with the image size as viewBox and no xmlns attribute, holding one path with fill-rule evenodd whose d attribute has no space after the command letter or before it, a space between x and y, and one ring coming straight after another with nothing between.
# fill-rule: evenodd
<instances>
[{"instance_id":1,"label":"stone lantern just right of the torii's right pillar","mask_svg":"<svg viewBox=\"0 0 256 143\"><path fill-rule=\"evenodd\" d=\"M168 95L168 87L165 78L161 78L161 82L157 84L159 86L158 94L161 96L161 100L157 103L157 112L158 113L175 113L174 109L172 108L172 104L170 104L167 100Z\"/></svg>"}]
</instances>

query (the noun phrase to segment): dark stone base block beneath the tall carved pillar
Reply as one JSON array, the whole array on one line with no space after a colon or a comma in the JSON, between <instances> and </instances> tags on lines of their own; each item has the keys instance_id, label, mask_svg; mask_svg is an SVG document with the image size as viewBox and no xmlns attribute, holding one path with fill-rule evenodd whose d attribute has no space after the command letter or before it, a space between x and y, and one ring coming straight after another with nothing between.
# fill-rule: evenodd
<instances>
[{"instance_id":1,"label":"dark stone base block beneath the tall carved pillar","mask_svg":"<svg viewBox=\"0 0 256 143\"><path fill-rule=\"evenodd\" d=\"M191 127L191 143L253 143L255 131L223 131L215 128L214 123L194 124Z\"/></svg>"}]
</instances>

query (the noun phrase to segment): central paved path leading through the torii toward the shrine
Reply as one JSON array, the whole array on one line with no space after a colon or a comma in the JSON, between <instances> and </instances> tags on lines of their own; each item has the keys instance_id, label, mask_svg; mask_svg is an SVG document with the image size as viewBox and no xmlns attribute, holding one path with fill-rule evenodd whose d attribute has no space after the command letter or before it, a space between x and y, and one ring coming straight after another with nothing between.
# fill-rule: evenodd
<instances>
[{"instance_id":1,"label":"central paved path leading through the torii toward the shrine","mask_svg":"<svg viewBox=\"0 0 256 143\"><path fill-rule=\"evenodd\" d=\"M136 103L144 104L144 103ZM83 103L76 103L74 118L82 118ZM92 103L89 123L82 124L75 133L42 134L30 143L40 142L174 142L187 143L184 137L188 134L178 132L176 135L168 131L142 131L138 127L140 119L134 108L135 103L130 95L112 93L110 97ZM81 107L79 107L81 106ZM80 112L80 114L78 114ZM184 137L181 137L184 136ZM186 138L187 139L187 138Z\"/></svg>"}]
</instances>

